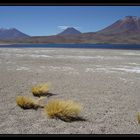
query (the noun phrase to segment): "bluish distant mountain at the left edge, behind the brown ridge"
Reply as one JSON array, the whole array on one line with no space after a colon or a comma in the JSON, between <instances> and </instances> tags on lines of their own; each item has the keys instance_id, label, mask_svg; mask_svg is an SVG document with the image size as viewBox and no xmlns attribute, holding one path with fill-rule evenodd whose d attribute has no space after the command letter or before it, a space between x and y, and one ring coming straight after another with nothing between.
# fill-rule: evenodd
<instances>
[{"instance_id":1,"label":"bluish distant mountain at the left edge, behind the brown ridge","mask_svg":"<svg viewBox=\"0 0 140 140\"><path fill-rule=\"evenodd\" d=\"M4 29L0 28L0 39L18 39L30 37L15 28Z\"/></svg>"}]
</instances>

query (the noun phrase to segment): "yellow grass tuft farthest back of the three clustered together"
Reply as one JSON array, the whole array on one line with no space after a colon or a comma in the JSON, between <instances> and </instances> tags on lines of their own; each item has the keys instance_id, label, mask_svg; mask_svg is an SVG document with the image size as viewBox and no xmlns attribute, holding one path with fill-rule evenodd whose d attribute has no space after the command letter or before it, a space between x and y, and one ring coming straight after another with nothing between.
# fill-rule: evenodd
<instances>
[{"instance_id":1,"label":"yellow grass tuft farthest back of the three clustered together","mask_svg":"<svg viewBox=\"0 0 140 140\"><path fill-rule=\"evenodd\" d=\"M34 96L38 96L38 97L45 96L48 94L48 92L49 92L48 83L39 84L39 85L32 87L32 93Z\"/></svg>"}]
</instances>

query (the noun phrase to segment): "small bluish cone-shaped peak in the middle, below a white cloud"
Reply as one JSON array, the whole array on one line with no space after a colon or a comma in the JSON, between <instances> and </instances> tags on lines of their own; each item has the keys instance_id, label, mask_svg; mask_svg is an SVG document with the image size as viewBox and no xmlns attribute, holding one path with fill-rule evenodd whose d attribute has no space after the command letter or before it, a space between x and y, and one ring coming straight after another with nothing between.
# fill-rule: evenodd
<instances>
[{"instance_id":1,"label":"small bluish cone-shaped peak in the middle, below a white cloud","mask_svg":"<svg viewBox=\"0 0 140 140\"><path fill-rule=\"evenodd\" d=\"M75 34L81 34L81 32L73 27L69 27L65 29L63 32L59 33L58 35L75 35Z\"/></svg>"}]
</instances>

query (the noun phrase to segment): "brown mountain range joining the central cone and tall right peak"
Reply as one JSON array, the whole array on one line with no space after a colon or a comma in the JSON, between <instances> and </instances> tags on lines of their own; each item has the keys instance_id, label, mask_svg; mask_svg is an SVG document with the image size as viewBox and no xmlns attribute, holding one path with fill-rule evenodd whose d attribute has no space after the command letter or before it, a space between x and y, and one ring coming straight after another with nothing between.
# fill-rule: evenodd
<instances>
[{"instance_id":1,"label":"brown mountain range joining the central cone and tall right peak","mask_svg":"<svg viewBox=\"0 0 140 140\"><path fill-rule=\"evenodd\" d=\"M74 28L67 28L58 35L34 36L7 40L8 43L90 43L90 44L140 44L140 18L126 16L110 26L97 31L81 33ZM7 43L6 42L6 43Z\"/></svg>"}]
</instances>

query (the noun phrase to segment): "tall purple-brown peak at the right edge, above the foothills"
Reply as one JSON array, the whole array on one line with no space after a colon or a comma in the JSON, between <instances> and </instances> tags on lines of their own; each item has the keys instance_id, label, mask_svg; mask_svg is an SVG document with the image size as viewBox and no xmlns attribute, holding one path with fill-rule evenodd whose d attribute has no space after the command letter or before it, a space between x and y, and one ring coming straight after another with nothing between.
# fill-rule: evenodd
<instances>
[{"instance_id":1,"label":"tall purple-brown peak at the right edge, above the foothills","mask_svg":"<svg viewBox=\"0 0 140 140\"><path fill-rule=\"evenodd\" d=\"M99 34L136 34L140 33L140 18L126 16L112 25L98 31Z\"/></svg>"}]
</instances>

